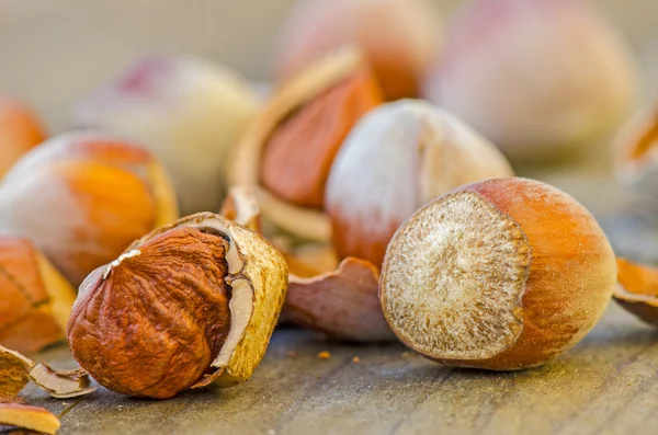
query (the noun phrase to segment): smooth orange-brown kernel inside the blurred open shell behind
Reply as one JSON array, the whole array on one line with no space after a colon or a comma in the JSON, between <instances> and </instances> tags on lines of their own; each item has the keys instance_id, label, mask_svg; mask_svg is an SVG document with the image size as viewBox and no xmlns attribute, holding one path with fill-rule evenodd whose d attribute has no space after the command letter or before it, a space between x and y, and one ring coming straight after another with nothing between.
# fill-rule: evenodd
<instances>
[{"instance_id":1,"label":"smooth orange-brown kernel inside the blurred open shell behind","mask_svg":"<svg viewBox=\"0 0 658 435\"><path fill-rule=\"evenodd\" d=\"M272 134L261 181L293 204L322 208L331 163L356 121L383 101L368 68L315 98Z\"/></svg>"}]
</instances>

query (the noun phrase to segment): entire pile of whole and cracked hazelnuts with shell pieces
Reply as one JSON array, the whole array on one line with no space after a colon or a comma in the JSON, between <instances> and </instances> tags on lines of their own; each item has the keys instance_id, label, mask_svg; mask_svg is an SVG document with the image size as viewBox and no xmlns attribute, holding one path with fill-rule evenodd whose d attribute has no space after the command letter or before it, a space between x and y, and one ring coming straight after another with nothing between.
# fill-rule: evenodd
<instances>
[{"instance_id":1,"label":"entire pile of whole and cracked hazelnuts with shell pieces","mask_svg":"<svg viewBox=\"0 0 658 435\"><path fill-rule=\"evenodd\" d=\"M155 399L241 384L279 321L495 370L574 346L612 297L658 325L658 270L507 160L623 119L623 42L570 0L494 3L442 54L423 0L304 2L264 101L196 57L137 61L49 138L0 100L0 424L57 431L16 396L30 380L56 398L89 376ZM654 116L619 140L632 186L656 183L656 135ZM65 339L80 369L18 353Z\"/></svg>"}]
</instances>

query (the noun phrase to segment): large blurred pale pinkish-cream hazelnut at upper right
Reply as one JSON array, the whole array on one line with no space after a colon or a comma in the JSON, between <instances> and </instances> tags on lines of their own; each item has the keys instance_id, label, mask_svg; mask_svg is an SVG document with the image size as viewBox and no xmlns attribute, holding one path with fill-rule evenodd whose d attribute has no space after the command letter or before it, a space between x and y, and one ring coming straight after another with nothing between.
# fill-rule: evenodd
<instances>
[{"instance_id":1,"label":"large blurred pale pinkish-cream hazelnut at upper right","mask_svg":"<svg viewBox=\"0 0 658 435\"><path fill-rule=\"evenodd\" d=\"M456 16L424 96L509 158L591 147L631 108L636 65L586 2L474 0Z\"/></svg>"}]
</instances>

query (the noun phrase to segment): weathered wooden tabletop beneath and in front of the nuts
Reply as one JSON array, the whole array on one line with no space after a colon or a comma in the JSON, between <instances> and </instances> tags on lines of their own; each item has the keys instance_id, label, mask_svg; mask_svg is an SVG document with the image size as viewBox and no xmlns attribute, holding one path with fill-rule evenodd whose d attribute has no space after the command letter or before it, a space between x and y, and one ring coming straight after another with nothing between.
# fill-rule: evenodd
<instances>
[{"instance_id":1,"label":"weathered wooden tabletop beneath and in front of the nuts","mask_svg":"<svg viewBox=\"0 0 658 435\"><path fill-rule=\"evenodd\" d=\"M592 209L619 253L658 260L658 231L647 219L622 214L636 209L636 199L609 178L541 178ZM318 358L322 351L331 357ZM58 368L75 364L63 346L38 358ZM555 360L488 373L441 366L400 344L348 345L284 329L275 332L254 376L232 389L158 402L103 388L56 400L31 386L23 397L58 414L64 435L655 434L658 330L613 302L601 323Z\"/></svg>"}]
</instances>

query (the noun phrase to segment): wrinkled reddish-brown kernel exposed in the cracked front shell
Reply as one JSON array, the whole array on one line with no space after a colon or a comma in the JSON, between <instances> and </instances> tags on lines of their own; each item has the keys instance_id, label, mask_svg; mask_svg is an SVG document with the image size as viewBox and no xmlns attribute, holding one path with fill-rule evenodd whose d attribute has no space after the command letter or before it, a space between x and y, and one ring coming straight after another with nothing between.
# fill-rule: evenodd
<instances>
[{"instance_id":1,"label":"wrinkled reddish-brown kernel exposed in the cracked front shell","mask_svg":"<svg viewBox=\"0 0 658 435\"><path fill-rule=\"evenodd\" d=\"M167 399L201 379L228 334L226 242L174 228L139 251L82 283L67 335L99 384Z\"/></svg>"}]
</instances>

